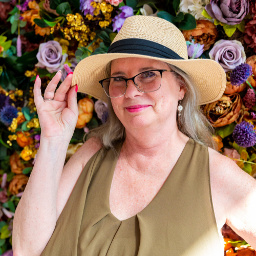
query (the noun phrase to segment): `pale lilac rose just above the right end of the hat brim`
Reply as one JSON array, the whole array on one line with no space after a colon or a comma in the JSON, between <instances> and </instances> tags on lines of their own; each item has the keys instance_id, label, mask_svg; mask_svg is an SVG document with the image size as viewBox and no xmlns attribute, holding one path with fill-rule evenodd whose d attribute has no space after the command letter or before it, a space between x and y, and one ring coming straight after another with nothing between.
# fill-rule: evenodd
<instances>
[{"instance_id":1,"label":"pale lilac rose just above the right end of the hat brim","mask_svg":"<svg viewBox=\"0 0 256 256\"><path fill-rule=\"evenodd\" d=\"M225 72L231 71L246 60L244 47L238 40L221 39L214 44L209 56L217 61Z\"/></svg>"}]
</instances>

